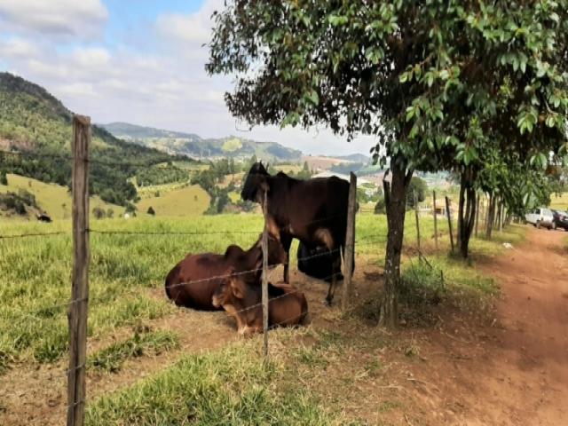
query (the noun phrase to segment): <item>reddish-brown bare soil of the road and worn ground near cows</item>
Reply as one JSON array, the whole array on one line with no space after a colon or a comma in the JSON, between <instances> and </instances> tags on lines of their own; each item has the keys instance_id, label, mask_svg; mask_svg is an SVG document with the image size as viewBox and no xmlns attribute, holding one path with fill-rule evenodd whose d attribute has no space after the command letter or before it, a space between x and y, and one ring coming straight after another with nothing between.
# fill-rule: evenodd
<instances>
[{"instance_id":1,"label":"reddish-brown bare soil of the road and worn ground near cows","mask_svg":"<svg viewBox=\"0 0 568 426\"><path fill-rule=\"evenodd\" d=\"M293 271L291 282L306 293L312 324L308 329L341 335L330 346L327 367L298 362L300 381L316 390L324 404L346 418L390 425L567 425L568 424L568 233L527 229L519 247L486 259L480 268L501 285L501 297L485 309L444 301L430 322L414 321L387 332L375 327L375 307L358 306L351 315L322 304L327 285ZM382 270L365 259L354 281L360 300L374 300ZM373 261L372 261L373 260ZM281 278L280 270L271 280ZM163 297L162 289L152 290ZM146 321L154 329L178 332L181 347L157 357L127 361L116 374L88 373L89 399L153 375L184 353L216 350L237 339L225 312L180 309ZM309 335L285 336L309 347ZM88 351L131 335L120 329L89 342ZM275 334L272 351L284 351ZM259 340L260 342L260 340ZM294 353L292 353L294 358ZM298 357L296 357L297 359ZM66 378L60 362L15 366L0 377L0 424L63 424Z\"/></svg>"}]
</instances>

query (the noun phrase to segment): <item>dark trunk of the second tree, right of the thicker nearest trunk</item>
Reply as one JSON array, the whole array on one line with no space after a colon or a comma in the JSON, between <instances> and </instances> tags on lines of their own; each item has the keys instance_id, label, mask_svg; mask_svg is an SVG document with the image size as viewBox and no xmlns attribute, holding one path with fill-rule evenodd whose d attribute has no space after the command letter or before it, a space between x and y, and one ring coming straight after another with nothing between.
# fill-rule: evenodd
<instances>
[{"instance_id":1,"label":"dark trunk of the second tree, right of the thicker nearest trunk","mask_svg":"<svg viewBox=\"0 0 568 426\"><path fill-rule=\"evenodd\" d=\"M474 172L466 168L461 172L460 205L458 210L458 245L464 259L469 254L469 239L476 218L476 191L473 187ZM465 210L464 210L465 209Z\"/></svg>"}]
</instances>

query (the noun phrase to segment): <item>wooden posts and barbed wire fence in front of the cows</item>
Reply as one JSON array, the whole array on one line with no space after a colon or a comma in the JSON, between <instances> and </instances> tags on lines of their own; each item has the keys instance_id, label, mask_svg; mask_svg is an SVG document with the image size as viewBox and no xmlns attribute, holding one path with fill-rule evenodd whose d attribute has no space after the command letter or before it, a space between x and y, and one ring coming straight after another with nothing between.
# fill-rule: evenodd
<instances>
[{"instance_id":1,"label":"wooden posts and barbed wire fence in front of the cows","mask_svg":"<svg viewBox=\"0 0 568 426\"><path fill-rule=\"evenodd\" d=\"M74 125L74 139L72 143L73 155L60 155L60 154L31 154L26 152L13 152L13 151L0 151L0 154L5 155L13 155L13 156L20 156L20 157L28 157L28 158L51 158L65 162L72 162L72 176L73 176L73 246L74 246L74 263L73 263L73 278L72 278L72 296L71 300L67 301L66 303L62 304L52 304L51 306L42 306L40 307L37 312L47 312L49 310L61 308L67 306L68 310L68 334L69 334L69 367L64 372L67 375L67 425L83 425L84 422L84 406L86 404L86 382L85 382L85 375L87 369L87 353L86 353L86 344L87 344L87 312L88 307L95 303L97 303L97 299L90 300L89 298L89 261L91 258L90 250L89 250L89 236L90 233L99 233L99 234L123 234L123 235L207 235L207 234L228 234L228 233L255 233L251 231L211 231L211 232L172 232L172 231L150 231L150 232L142 232L142 231L128 231L128 230L101 230L101 229L90 229L89 226L89 165L92 164L101 164L106 166L113 166L113 167L123 167L123 168L136 168L136 167L152 167L157 166L161 167L162 169L166 169L169 167L173 167L177 170L186 170L182 168L177 168L173 164L164 165L163 162L140 162L140 163L129 163L129 162L107 162L101 160L95 160L89 158L89 143L91 141L91 120L89 117L83 117L79 115L74 115L73 119ZM353 177L353 176L351 176ZM351 179L353 180L353 179ZM351 182L352 184L352 182ZM353 186L351 188L351 186ZM321 222L327 222L335 217L345 217L347 216L348 219L351 217L352 224L348 224L348 235L347 243L351 243L351 247L343 247L343 249L348 250L348 258L352 260L354 256L354 222L355 222L355 202L351 202L351 199L355 200L356 191L355 185L350 186L350 203L349 208L343 214L333 215L330 217L322 217L312 221L305 222L304 224L300 225L312 225ZM266 198L266 196L265 196ZM351 206L352 204L352 206ZM264 232L263 232L263 267L262 268L255 268L248 271L243 272L233 272L227 273L225 275L218 275L214 277L209 277L207 279L201 280L191 280L187 282L181 282L169 286L169 288L179 287L179 286L186 286L191 285L194 283L199 283L203 281L209 280L218 280L218 279L226 279L230 277L235 277L243 274L248 274L250 272L264 272L263 274L263 294L262 294L262 301L258 304L253 304L248 306L247 308L242 309L239 312L235 312L235 314L240 314L241 312L246 312L251 309L256 309L260 306L263 307L263 322L264 322L264 353L267 355L268 353L268 334L266 333L268 330L268 307L269 307L269 297L268 297L268 264L267 264L267 236L268 236L268 227L266 224L267 217L266 217L266 202L263 203L264 205ZM351 211L351 208L353 211ZM14 235L5 235L0 236L0 239L19 239L19 238L28 238L28 237L48 237L54 235L63 235L67 234L67 232L54 232L54 233L21 233L21 234L14 234ZM350 242L351 241L351 242ZM369 242L371 243L371 242ZM333 250L325 250L321 253L316 253L312 256L304 256L298 258L298 261L305 261L311 258L316 258L319 256L329 256L333 253L341 253L342 248L335 248ZM289 263L289 259L288 259ZM287 264L288 264L287 263ZM351 261L348 260L347 264L350 264ZM270 265L273 268L285 263L279 264L272 264ZM351 268L350 268L351 269ZM340 274L341 271L335 272L332 275L324 278L323 280L328 280L330 278L335 277L335 275ZM349 276L351 276L351 271L347 271ZM349 280L348 280L349 282ZM275 286L278 287L278 286ZM284 293L280 296L270 298L271 301L278 300L280 297L290 296L296 292L299 292L297 288L291 287L282 290ZM132 292L133 293L133 292ZM345 293L346 295L349 292ZM137 295L139 295L139 290L137 291ZM124 294L119 296L125 296ZM106 296L101 296L98 298L99 301L107 301ZM345 304L346 305L346 304ZM32 318L36 318L42 320L39 317L36 317L29 312L26 315L31 316ZM300 314L301 315L301 314ZM281 322L287 322L291 319L295 319L297 316L284 319ZM272 326L278 326L280 323L272 324Z\"/></svg>"}]
</instances>

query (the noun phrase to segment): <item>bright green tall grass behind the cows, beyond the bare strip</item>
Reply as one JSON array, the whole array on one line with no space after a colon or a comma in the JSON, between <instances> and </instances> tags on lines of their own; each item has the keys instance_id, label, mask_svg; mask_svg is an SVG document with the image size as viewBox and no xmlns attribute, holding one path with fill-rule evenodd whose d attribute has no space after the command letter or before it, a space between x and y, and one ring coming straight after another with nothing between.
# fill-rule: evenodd
<instances>
[{"instance_id":1,"label":"bright green tall grass behind the cows, beyond the bare strip","mask_svg":"<svg viewBox=\"0 0 568 426\"><path fill-rule=\"evenodd\" d=\"M438 222L438 231L444 231L444 226L443 222ZM412 213L407 215L405 227L406 247L414 246L416 231ZM102 336L114 328L133 325L139 320L160 318L173 312L174 308L165 296L162 299L155 298L145 288L162 288L166 274L186 253L223 253L232 243L248 248L256 241L262 228L263 219L256 214L93 221L89 335ZM421 217L424 249L433 247L432 229L432 219ZM229 233L97 233L112 230L142 233L228 230ZM56 221L49 225L13 221L0 223L0 234L58 231L70 232L70 222ZM358 262L383 265L386 231L386 217L359 215L356 230ZM506 232L495 232L494 241L474 239L471 243L472 256L474 259L478 256L493 256L501 252L502 241L515 245L521 238L522 228L510 226ZM296 267L296 244L290 252L292 267ZM440 267L445 271L456 267L456 280L460 274L464 277L471 276L471 266L446 256L448 244L447 236L440 240ZM8 367L18 360L52 362L66 353L65 304L70 296L71 253L70 235L0 240L0 368ZM359 260L361 256L366 260ZM407 256L403 256L403 262L407 262ZM469 284L475 285L485 284Z\"/></svg>"}]
</instances>

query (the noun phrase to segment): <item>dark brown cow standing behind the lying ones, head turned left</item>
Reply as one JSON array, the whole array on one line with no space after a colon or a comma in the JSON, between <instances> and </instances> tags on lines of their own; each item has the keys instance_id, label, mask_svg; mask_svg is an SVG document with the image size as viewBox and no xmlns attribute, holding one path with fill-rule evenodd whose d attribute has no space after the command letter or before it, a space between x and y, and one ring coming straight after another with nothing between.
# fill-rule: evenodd
<instances>
[{"instance_id":1,"label":"dark brown cow standing behind the lying ones, head turned left","mask_svg":"<svg viewBox=\"0 0 568 426\"><path fill-rule=\"evenodd\" d=\"M266 220L269 233L281 241L287 255L294 238L311 247L343 249L349 182L339 177L299 180L282 172L271 176L262 163L256 162L248 171L241 197L262 205L264 191L268 191ZM335 256L332 264L334 276L329 283L327 304L331 304L334 298L336 274L340 271L341 257ZM284 281L289 282L288 264L284 266Z\"/></svg>"}]
</instances>

